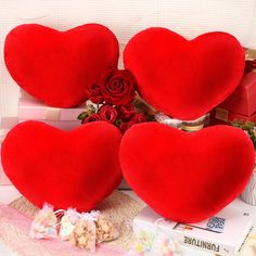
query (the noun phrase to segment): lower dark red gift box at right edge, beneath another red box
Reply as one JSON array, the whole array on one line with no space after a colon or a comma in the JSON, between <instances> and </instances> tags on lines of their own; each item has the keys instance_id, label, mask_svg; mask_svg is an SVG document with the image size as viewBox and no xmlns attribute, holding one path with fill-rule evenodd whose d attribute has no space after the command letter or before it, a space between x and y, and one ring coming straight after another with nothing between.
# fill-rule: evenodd
<instances>
[{"instance_id":1,"label":"lower dark red gift box at right edge, beneath another red box","mask_svg":"<svg viewBox=\"0 0 256 256\"><path fill-rule=\"evenodd\" d=\"M256 100L255 100L256 101ZM210 112L210 125L227 125L235 120L256 121L256 113L251 116L241 115L227 108L216 107Z\"/></svg>"}]
</instances>

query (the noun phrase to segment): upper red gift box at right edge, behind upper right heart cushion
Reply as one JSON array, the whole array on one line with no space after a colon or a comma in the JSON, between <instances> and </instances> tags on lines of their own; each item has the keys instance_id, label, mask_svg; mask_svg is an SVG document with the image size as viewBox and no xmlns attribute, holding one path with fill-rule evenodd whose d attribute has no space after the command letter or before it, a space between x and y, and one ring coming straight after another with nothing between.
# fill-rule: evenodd
<instances>
[{"instance_id":1,"label":"upper red gift box at right edge, behind upper right heart cushion","mask_svg":"<svg viewBox=\"0 0 256 256\"><path fill-rule=\"evenodd\" d=\"M243 116L256 113L256 73L245 74L240 86L219 107Z\"/></svg>"}]
</instances>

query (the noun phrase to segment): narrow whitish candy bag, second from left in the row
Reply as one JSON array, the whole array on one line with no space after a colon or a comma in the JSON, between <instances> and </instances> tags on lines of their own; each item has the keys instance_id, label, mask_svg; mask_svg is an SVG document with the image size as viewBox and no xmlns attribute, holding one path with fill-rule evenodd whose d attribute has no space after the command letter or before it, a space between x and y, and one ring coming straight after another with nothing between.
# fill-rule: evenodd
<instances>
[{"instance_id":1,"label":"narrow whitish candy bag, second from left in the row","mask_svg":"<svg viewBox=\"0 0 256 256\"><path fill-rule=\"evenodd\" d=\"M79 218L80 218L80 214L78 214L76 212L76 209L68 208L64 213L64 215L61 219L61 222L60 222L61 227L60 227L60 231L59 231L59 236L61 240L68 240L69 239Z\"/></svg>"}]
</instances>

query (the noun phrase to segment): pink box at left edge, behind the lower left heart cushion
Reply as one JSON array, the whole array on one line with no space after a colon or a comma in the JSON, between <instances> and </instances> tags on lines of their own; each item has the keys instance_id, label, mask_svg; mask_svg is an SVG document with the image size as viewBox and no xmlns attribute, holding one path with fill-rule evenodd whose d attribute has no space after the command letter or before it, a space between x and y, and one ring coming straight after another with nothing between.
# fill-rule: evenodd
<instances>
[{"instance_id":1,"label":"pink box at left edge, behind the lower left heart cushion","mask_svg":"<svg viewBox=\"0 0 256 256\"><path fill-rule=\"evenodd\" d=\"M17 124L17 117L2 117L0 119L0 151L1 144L7 133ZM1 154L0 154L0 185L12 184L2 168Z\"/></svg>"}]
</instances>

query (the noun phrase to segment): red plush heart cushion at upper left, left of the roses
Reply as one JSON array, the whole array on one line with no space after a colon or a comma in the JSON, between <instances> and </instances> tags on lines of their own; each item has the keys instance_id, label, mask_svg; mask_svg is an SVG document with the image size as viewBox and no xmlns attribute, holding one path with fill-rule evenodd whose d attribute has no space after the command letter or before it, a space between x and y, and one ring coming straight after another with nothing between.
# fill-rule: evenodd
<instances>
[{"instance_id":1,"label":"red plush heart cushion at upper left, left of the roses","mask_svg":"<svg viewBox=\"0 0 256 256\"><path fill-rule=\"evenodd\" d=\"M5 64L17 85L56 107L86 101L86 89L117 66L118 52L115 35L98 24L67 31L21 25L9 33L4 43Z\"/></svg>"}]
</instances>

